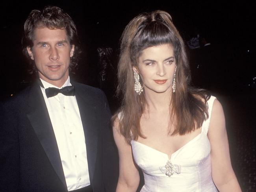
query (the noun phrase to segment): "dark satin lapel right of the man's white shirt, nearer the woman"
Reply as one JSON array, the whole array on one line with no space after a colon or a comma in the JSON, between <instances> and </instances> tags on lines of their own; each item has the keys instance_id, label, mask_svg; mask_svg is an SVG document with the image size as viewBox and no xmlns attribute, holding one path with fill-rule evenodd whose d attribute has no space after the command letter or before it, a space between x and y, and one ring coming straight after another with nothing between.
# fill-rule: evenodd
<instances>
[{"instance_id":1,"label":"dark satin lapel right of the man's white shirt, nearer the woman","mask_svg":"<svg viewBox=\"0 0 256 192\"><path fill-rule=\"evenodd\" d=\"M72 85L76 84L72 82ZM90 181L93 181L98 151L98 137L100 135L97 128L98 122L96 120L96 106L93 106L92 102L90 102L91 98L89 98L88 93L82 89L79 89L78 86L76 86L75 89L76 101L78 103L85 136L89 177Z\"/></svg>"}]
</instances>

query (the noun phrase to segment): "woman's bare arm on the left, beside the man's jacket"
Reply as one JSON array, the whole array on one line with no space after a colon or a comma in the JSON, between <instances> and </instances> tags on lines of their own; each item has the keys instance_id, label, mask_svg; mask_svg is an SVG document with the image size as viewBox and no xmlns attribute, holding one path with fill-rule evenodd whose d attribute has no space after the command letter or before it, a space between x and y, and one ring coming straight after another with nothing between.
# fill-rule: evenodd
<instances>
[{"instance_id":1,"label":"woman's bare arm on the left, beside the man's jacket","mask_svg":"<svg viewBox=\"0 0 256 192\"><path fill-rule=\"evenodd\" d=\"M132 147L119 131L119 124L114 122L113 135L119 153L119 178L116 192L135 192L139 186L139 172L132 158Z\"/></svg>"}]
</instances>

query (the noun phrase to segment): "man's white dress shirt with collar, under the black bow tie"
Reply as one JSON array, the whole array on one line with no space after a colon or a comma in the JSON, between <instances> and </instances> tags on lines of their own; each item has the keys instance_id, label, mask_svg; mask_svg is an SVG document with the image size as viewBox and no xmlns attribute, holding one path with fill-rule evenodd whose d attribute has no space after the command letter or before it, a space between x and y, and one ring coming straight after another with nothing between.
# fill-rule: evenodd
<instances>
[{"instance_id":1,"label":"man's white dress shirt with collar, under the black bow tie","mask_svg":"<svg viewBox=\"0 0 256 192\"><path fill-rule=\"evenodd\" d=\"M76 96L59 93L47 98L46 88L59 87L41 81L45 87L41 87L41 90L58 144L67 189L75 190L90 185L85 137ZM69 85L68 78L62 87Z\"/></svg>"}]
</instances>

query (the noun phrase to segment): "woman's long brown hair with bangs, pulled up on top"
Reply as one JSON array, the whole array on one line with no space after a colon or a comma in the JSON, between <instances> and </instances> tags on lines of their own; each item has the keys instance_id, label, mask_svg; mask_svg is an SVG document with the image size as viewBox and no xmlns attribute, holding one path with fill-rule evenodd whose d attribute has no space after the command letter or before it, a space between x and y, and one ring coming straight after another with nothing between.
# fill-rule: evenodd
<instances>
[{"instance_id":1,"label":"woman's long brown hair with bangs, pulled up on top","mask_svg":"<svg viewBox=\"0 0 256 192\"><path fill-rule=\"evenodd\" d=\"M137 66L138 57L145 48L161 44L173 46L177 65L176 92L172 94L170 103L170 116L175 128L169 133L184 135L200 128L208 118L207 100L210 95L190 86L184 41L171 16L160 10L142 13L129 22L121 37L117 94L122 97L122 103L113 120L119 116L119 130L128 143L132 139L137 140L138 136L145 138L141 133L140 119L147 105L144 92L137 95L134 91L132 67Z\"/></svg>"}]
</instances>

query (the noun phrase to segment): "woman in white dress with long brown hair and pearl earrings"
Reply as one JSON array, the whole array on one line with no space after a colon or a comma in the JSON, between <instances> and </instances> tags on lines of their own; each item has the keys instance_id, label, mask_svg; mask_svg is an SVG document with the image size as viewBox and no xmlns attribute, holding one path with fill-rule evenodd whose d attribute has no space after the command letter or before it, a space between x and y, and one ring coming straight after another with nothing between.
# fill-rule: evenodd
<instances>
[{"instance_id":1,"label":"woman in white dress with long brown hair and pearl earrings","mask_svg":"<svg viewBox=\"0 0 256 192\"><path fill-rule=\"evenodd\" d=\"M231 166L221 104L189 86L184 42L165 11L135 17L122 34L113 117L117 192L241 191Z\"/></svg>"}]
</instances>

